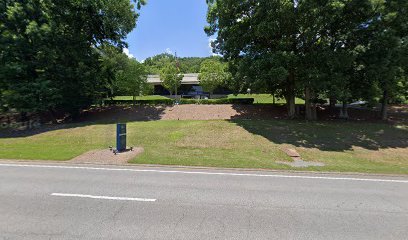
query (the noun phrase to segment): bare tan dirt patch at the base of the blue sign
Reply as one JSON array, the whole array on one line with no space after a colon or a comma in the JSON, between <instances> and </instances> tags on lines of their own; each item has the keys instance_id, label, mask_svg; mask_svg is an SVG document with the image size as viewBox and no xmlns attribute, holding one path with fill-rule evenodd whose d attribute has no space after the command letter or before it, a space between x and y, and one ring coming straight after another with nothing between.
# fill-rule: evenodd
<instances>
[{"instance_id":1,"label":"bare tan dirt patch at the base of the blue sign","mask_svg":"<svg viewBox=\"0 0 408 240\"><path fill-rule=\"evenodd\" d=\"M92 164L126 164L143 152L143 148L133 148L133 151L126 151L114 154L109 149L93 150L86 152L69 162L71 163L92 163Z\"/></svg>"}]
</instances>

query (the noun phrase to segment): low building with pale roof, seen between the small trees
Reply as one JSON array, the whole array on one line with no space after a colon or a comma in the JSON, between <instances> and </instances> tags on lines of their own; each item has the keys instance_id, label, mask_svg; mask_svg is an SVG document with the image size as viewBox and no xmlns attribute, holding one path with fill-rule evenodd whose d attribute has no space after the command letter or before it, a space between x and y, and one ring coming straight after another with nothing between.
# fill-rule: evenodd
<instances>
[{"instance_id":1,"label":"low building with pale roof, seen between the small trees","mask_svg":"<svg viewBox=\"0 0 408 240\"><path fill-rule=\"evenodd\" d=\"M200 93L199 95L208 95L208 93L203 93L202 87L200 86L200 80L198 79L198 73L185 73L181 80L181 86L178 89L178 94L180 95L196 95L195 93ZM170 95L170 92L163 87L159 75L148 75L147 82L154 85L154 95ZM218 88L214 91L217 95L230 94L226 88Z\"/></svg>"}]
</instances>

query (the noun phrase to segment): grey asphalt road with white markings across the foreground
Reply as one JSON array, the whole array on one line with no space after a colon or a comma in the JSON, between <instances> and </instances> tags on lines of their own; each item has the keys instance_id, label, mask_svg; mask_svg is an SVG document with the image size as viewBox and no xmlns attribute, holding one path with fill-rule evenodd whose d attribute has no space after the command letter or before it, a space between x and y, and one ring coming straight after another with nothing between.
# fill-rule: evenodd
<instances>
[{"instance_id":1,"label":"grey asphalt road with white markings across the foreground","mask_svg":"<svg viewBox=\"0 0 408 240\"><path fill-rule=\"evenodd\" d=\"M0 163L0 239L408 239L408 178Z\"/></svg>"}]
</instances>

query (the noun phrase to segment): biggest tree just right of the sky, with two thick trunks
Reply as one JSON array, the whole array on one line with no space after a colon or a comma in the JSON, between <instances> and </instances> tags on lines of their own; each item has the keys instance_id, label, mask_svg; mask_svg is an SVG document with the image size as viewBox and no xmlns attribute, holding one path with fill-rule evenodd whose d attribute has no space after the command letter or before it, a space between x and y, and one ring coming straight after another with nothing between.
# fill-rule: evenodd
<instances>
[{"instance_id":1,"label":"biggest tree just right of the sky, with two thick trunks","mask_svg":"<svg viewBox=\"0 0 408 240\"><path fill-rule=\"evenodd\" d=\"M327 92L331 82L321 56L339 60L347 56L352 64L331 70L337 76L349 77L350 84L343 89L356 85L352 76L357 40L367 39L362 32L381 5L381 1L370 0L207 3L209 26L205 31L208 35L217 33L215 51L233 65L233 79L238 76L246 84L249 81L254 86L281 92L289 118L295 117L295 96L304 97L307 119L315 119L314 102Z\"/></svg>"}]
</instances>

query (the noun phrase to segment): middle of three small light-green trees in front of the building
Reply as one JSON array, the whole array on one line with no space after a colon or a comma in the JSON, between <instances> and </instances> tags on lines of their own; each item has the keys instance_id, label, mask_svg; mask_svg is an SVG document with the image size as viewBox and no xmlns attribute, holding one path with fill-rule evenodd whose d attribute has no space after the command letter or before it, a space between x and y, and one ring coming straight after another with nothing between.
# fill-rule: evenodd
<instances>
[{"instance_id":1,"label":"middle of three small light-green trees in front of the building","mask_svg":"<svg viewBox=\"0 0 408 240\"><path fill-rule=\"evenodd\" d=\"M163 87L169 90L170 95L174 92L174 95L177 96L177 89L180 87L183 77L184 75L180 74L176 65L172 62L166 64L160 71L160 80Z\"/></svg>"}]
</instances>

